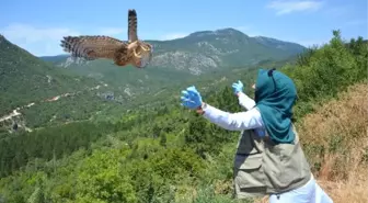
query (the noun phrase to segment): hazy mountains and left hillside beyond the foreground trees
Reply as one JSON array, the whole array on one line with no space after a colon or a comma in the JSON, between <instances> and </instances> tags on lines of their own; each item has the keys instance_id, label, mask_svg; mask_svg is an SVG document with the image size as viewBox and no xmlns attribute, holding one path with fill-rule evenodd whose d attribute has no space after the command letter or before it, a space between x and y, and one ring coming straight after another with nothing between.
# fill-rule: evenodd
<instances>
[{"instance_id":1,"label":"hazy mountains and left hillside beyond the foreground trees","mask_svg":"<svg viewBox=\"0 0 368 203\"><path fill-rule=\"evenodd\" d=\"M67 55L39 59L1 36L0 132L15 124L32 131L80 120L119 117L122 111L173 99L173 92L191 83L221 86L254 63L273 66L275 59L287 61L303 49L298 44L261 38L225 29L174 41L151 41L153 64L140 70L107 60L71 63ZM218 60L211 67L202 66L208 57ZM196 75L192 68L202 74Z\"/></svg>"}]
</instances>

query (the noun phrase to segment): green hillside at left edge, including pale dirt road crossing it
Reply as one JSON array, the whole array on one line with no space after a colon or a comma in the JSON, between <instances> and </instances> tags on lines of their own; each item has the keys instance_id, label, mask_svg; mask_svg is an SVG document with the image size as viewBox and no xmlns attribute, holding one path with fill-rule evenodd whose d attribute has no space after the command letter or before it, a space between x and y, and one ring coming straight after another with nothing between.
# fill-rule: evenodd
<instances>
[{"instance_id":1,"label":"green hillside at left edge, including pale dirt road crossing it","mask_svg":"<svg viewBox=\"0 0 368 203\"><path fill-rule=\"evenodd\" d=\"M12 122L33 128L90 119L114 106L103 102L108 101L108 90L99 80L56 68L0 35L0 134Z\"/></svg>"}]
</instances>

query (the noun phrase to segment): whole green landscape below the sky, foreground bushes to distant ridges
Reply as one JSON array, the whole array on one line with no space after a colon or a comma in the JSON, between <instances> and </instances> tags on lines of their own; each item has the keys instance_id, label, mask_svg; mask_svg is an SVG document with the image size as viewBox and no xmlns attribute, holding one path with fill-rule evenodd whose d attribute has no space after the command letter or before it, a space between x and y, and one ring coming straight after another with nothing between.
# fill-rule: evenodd
<instances>
[{"instance_id":1,"label":"whole green landscape below the sky, foreground bushes to distant ridges","mask_svg":"<svg viewBox=\"0 0 368 203\"><path fill-rule=\"evenodd\" d=\"M204 101L241 111L231 83L241 80L253 95L258 68L295 80L294 122L321 187L336 203L368 201L361 190L368 187L361 178L368 46L361 37L345 42L334 31L326 45L306 49L223 29L152 43L152 66L138 70L35 57L0 37L0 202L237 202L239 132L183 109L179 97L195 84Z\"/></svg>"}]
</instances>

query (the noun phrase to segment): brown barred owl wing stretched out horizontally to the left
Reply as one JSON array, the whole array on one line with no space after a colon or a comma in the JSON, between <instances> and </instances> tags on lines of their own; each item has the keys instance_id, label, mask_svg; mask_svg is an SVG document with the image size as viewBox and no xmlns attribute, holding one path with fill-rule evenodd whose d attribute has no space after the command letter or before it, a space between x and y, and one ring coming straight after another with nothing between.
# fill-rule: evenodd
<instances>
[{"instance_id":1,"label":"brown barred owl wing stretched out horizontally to the left","mask_svg":"<svg viewBox=\"0 0 368 203\"><path fill-rule=\"evenodd\" d=\"M114 59L116 50L127 46L123 41L110 36L65 36L60 46L73 57L88 60L97 58Z\"/></svg>"}]
</instances>

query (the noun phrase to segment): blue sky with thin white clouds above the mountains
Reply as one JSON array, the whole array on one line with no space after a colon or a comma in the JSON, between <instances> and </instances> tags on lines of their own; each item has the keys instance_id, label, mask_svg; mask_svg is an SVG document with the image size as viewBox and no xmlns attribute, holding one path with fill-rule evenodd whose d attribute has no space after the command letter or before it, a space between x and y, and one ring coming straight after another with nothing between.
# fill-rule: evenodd
<instances>
[{"instance_id":1,"label":"blue sky with thin white clouds above the mountains","mask_svg":"<svg viewBox=\"0 0 368 203\"><path fill-rule=\"evenodd\" d=\"M171 40L233 27L302 45L321 44L340 29L368 37L368 0L3 0L0 33L36 56L62 54L65 35L126 40L127 10L136 9L142 40Z\"/></svg>"}]
</instances>

